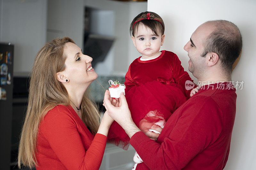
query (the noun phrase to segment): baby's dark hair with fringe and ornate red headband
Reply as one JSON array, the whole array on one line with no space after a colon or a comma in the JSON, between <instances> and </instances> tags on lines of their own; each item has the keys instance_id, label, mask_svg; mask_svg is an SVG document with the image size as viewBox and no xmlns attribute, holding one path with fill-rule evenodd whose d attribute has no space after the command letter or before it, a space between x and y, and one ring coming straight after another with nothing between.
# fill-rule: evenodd
<instances>
[{"instance_id":1,"label":"baby's dark hair with fringe and ornate red headband","mask_svg":"<svg viewBox=\"0 0 256 170\"><path fill-rule=\"evenodd\" d=\"M150 19L147 19L148 13L150 13ZM134 24L135 23L135 24ZM157 30L160 30L161 34L164 34L164 21L163 19L156 14L155 12L141 12L139 15L137 15L130 25L130 35L134 36L134 30L138 30L139 24L143 24L146 27L150 28L157 36Z\"/></svg>"}]
</instances>

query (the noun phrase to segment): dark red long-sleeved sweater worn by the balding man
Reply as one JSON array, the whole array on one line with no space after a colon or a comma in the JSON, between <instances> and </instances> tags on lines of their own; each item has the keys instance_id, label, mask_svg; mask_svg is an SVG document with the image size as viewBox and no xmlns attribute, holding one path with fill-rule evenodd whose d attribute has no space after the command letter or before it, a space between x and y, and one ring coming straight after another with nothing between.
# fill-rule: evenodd
<instances>
[{"instance_id":1,"label":"dark red long-sleeved sweater worn by the balding man","mask_svg":"<svg viewBox=\"0 0 256 170\"><path fill-rule=\"evenodd\" d=\"M172 114L156 142L135 133L130 144L144 161L136 169L223 169L236 114L236 89L223 84L201 87Z\"/></svg>"}]
</instances>

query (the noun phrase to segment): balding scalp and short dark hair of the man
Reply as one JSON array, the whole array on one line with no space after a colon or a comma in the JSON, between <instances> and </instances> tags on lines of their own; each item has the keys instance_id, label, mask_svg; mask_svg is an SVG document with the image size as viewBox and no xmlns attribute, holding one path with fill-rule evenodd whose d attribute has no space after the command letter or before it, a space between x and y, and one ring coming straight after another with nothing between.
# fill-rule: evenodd
<instances>
[{"instance_id":1,"label":"balding scalp and short dark hair of the man","mask_svg":"<svg viewBox=\"0 0 256 170\"><path fill-rule=\"evenodd\" d=\"M242 50L242 36L238 27L226 20L207 21L204 26L213 28L212 33L204 40L204 52L219 55L223 71L231 73L232 66Z\"/></svg>"}]
</instances>

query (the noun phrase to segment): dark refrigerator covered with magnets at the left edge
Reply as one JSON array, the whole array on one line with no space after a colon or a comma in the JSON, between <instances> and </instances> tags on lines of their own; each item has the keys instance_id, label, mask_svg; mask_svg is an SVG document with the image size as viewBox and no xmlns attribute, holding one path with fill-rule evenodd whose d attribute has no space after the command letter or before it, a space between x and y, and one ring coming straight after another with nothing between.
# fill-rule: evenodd
<instances>
[{"instance_id":1,"label":"dark refrigerator covered with magnets at the left edge","mask_svg":"<svg viewBox=\"0 0 256 170\"><path fill-rule=\"evenodd\" d=\"M0 43L0 169L10 169L12 135L13 51Z\"/></svg>"}]
</instances>

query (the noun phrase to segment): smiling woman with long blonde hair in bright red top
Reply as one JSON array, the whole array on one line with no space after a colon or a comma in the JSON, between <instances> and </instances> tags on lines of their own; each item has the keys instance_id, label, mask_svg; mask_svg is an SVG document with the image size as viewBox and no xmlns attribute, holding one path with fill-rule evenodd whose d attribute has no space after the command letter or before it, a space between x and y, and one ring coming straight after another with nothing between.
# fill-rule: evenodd
<instances>
[{"instance_id":1,"label":"smiling woman with long blonde hair in bright red top","mask_svg":"<svg viewBox=\"0 0 256 170\"><path fill-rule=\"evenodd\" d=\"M86 96L98 77L91 61L68 37L46 43L37 53L19 167L22 163L44 170L100 168L113 119L105 113L100 123L98 110ZM116 100L112 103L118 105Z\"/></svg>"}]
</instances>

